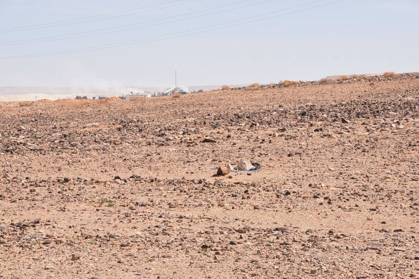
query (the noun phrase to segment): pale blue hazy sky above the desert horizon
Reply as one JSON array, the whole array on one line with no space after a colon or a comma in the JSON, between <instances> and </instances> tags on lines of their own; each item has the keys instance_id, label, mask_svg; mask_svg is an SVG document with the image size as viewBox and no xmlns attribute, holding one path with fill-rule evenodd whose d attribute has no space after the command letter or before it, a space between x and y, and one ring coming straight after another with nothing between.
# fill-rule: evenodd
<instances>
[{"instance_id":1,"label":"pale blue hazy sky above the desert horizon","mask_svg":"<svg viewBox=\"0 0 419 279\"><path fill-rule=\"evenodd\" d=\"M0 0L0 86L418 72L418 27L419 0Z\"/></svg>"}]
</instances>

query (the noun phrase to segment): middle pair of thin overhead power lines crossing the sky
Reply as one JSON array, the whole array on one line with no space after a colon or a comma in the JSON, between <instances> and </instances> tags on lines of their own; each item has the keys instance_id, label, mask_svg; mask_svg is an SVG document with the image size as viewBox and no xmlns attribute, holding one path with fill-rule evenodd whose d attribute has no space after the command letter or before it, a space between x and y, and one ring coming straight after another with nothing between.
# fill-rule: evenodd
<instances>
[{"instance_id":1,"label":"middle pair of thin overhead power lines crossing the sky","mask_svg":"<svg viewBox=\"0 0 419 279\"><path fill-rule=\"evenodd\" d=\"M30 40L5 41L5 42L0 42L0 46L16 45L16 44L28 44L28 43L56 41L56 40L68 40L68 39L91 37L91 36L110 34L110 33L116 33L116 32L146 28L146 27L153 27L153 26L158 26L158 25L163 25L163 24L168 24L168 23L173 23L173 22L185 21L185 20L194 19L194 18L201 18L203 16L210 16L210 15L214 15L214 14L218 14L218 13L222 13L222 12L228 12L228 11L232 11L232 10L237 10L237 9L241 9L241 8L246 8L246 7L250 7L250 6L254 6L254 5L263 4L263 3L266 3L266 2L271 2L273 0L264 0L264 1L257 2L257 3L249 4L249 5L244 5L244 6L239 6L239 7L235 7L235 8L226 9L226 10L216 11L216 12L212 12L212 13L208 13L208 14L204 14L204 15L198 15L198 16L187 17L187 18L180 18L180 19L167 21L167 22L162 22L162 23L156 23L156 24L151 24L151 25L132 27L132 28L120 29L120 30L114 30L114 31L107 31L107 30L113 30L113 29L118 29L118 28L127 27L127 26L135 26L135 25L139 25L139 24L143 24L143 23L151 23L151 22L161 21L161 20L164 20L164 19L179 18L179 17L185 16L185 15L201 13L201 12L204 12L204 11L214 10L214 9L218 9L218 8L226 7L226 6L231 6L231 5L235 5L235 4L246 2L246 1L249 1L249 0L242 0L242 1L231 3L231 4L221 5L221 6L208 8L208 9L203 9L203 10L199 10L199 11L195 11L195 12L189 12L189 13L184 13L184 14L180 14L180 15L174 15L174 16L169 16L169 17L165 17L165 18L143 21L143 22L140 22L140 23L128 24L128 25L123 25L123 26L118 26L118 27L104 28L104 29L99 29L99 30L94 30L94 31L85 31L85 32L79 32L79 33L73 33L73 34L67 34L67 35L57 35L57 36L43 37L43 38L30 39ZM316 0L316 1L312 1L310 3L306 3L306 4L303 4L303 5L308 5L308 4L315 3L315 2L320 2L320 1L324 1L324 0ZM89 33L99 32L99 31L107 31L107 32L89 34ZM82 35L82 34L88 34L88 35ZM76 35L76 36L74 36L74 35ZM79 36L77 36L77 35L79 35ZM68 37L68 36L73 36L73 37ZM66 38L63 38L63 37L66 37ZM58 38L60 38L60 39L58 39Z\"/></svg>"}]
</instances>

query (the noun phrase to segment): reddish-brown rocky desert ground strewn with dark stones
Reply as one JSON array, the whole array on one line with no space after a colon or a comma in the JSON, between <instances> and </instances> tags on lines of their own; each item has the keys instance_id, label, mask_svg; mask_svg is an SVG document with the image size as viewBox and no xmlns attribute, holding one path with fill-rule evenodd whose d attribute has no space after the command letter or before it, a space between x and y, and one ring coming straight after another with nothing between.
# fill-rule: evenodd
<instances>
[{"instance_id":1,"label":"reddish-brown rocky desert ground strewn with dark stones","mask_svg":"<svg viewBox=\"0 0 419 279\"><path fill-rule=\"evenodd\" d=\"M0 278L417 278L418 132L419 73L0 103Z\"/></svg>"}]
</instances>

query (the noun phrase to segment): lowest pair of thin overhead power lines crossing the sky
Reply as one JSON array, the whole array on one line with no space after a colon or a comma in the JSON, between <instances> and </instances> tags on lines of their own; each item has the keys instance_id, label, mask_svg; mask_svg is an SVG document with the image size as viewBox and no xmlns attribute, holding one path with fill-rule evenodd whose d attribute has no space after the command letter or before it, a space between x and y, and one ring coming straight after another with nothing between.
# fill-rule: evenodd
<instances>
[{"instance_id":1,"label":"lowest pair of thin overhead power lines crossing the sky","mask_svg":"<svg viewBox=\"0 0 419 279\"><path fill-rule=\"evenodd\" d=\"M289 15L289 14L293 14L293 13L297 13L297 12L301 12L301 11L306 11L306 10L310 10L310 9L314 9L314 8L318 8L318 7L322 7L322 6L331 5L331 4L334 4L334 3L337 3L337 2L341 2L341 1L343 1L343 0L336 0L336 1L328 2L328 3L317 5L317 6L312 6L312 7L308 7L308 8L304 8L304 9L299 9L299 10L295 10L295 11L291 11L291 12L287 12L287 13L283 13L283 14L279 14L279 15L268 16L268 17L264 17L264 18L260 18L260 19L253 19L253 20L250 20L250 21L242 22L242 23L236 23L236 22L240 22L240 21L249 20L249 19L256 18L256 17L261 17L261 16L274 14L274 13L277 13L279 11L283 11L283 10L286 10L286 9L291 9L293 7L286 8L286 9L281 9L281 10L276 10L276 11L272 11L272 12L269 12L269 13L254 15L254 16L251 16L251 17L246 17L246 18L242 18L242 19L238 19L238 20L227 21L227 22L224 22L224 23L214 24L214 25L210 25L210 26L206 26L206 27L195 28L195 29L190 29L190 30L186 30L186 31L181 31L181 32L176 32L176 33L171 33L171 34L166 34L166 35L161 35L161 36L154 36L154 37L149 37L149 38L144 38L144 39L139 39L139 40L130 40L130 41L124 41L124 42L119 42L119 43L111 43L111 44L97 45L97 46L77 48L77 49L69 49L69 50L62 50L62 51L55 51L55 52L0 57L0 60L19 59L19 58L33 58L33 57L52 56L52 55L60 55L60 54L70 54L70 53L78 53L78 52L85 52L85 51L109 49L109 48L128 46L128 45L134 45L134 44L140 44L140 43L147 43L147 42L153 42L153 41L174 39L174 38L179 38L179 37L196 35L196 34L200 34L200 33L206 33L206 32L215 31L215 30L231 28L231 27L240 26L240 25L244 25L244 24L249 24L249 23L253 23L253 22L258 22L258 21L262 21L262 20L272 19L272 18L284 16L284 15ZM301 5L298 5L298 6L301 6ZM294 7L297 7L297 6L294 6ZM231 23L235 23L235 24L231 24ZM225 24L230 24L230 25L217 27L217 26L221 26L221 25L225 25ZM208 28L210 28L210 29L208 29ZM203 30L203 29L208 29L208 30ZM201 30L201 31L199 31L199 30ZM188 33L188 32L192 32L192 33ZM182 33L187 33L187 34L182 34ZM169 36L169 37L167 37L167 36ZM166 37L166 38L163 38L163 37Z\"/></svg>"}]
</instances>

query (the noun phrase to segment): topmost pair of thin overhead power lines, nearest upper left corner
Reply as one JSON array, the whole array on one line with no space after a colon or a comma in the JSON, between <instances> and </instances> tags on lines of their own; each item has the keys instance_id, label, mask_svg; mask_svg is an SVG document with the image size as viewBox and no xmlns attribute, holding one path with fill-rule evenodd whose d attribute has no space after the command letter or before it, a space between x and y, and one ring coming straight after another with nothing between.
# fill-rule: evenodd
<instances>
[{"instance_id":1,"label":"topmost pair of thin overhead power lines, nearest upper left corner","mask_svg":"<svg viewBox=\"0 0 419 279\"><path fill-rule=\"evenodd\" d=\"M118 14L118 13L130 12L130 11L134 11L134 10L141 10L141 9L145 9L145 8L155 7L155 6L161 6L161 5L164 5L164 4L168 4L168 3L172 3L172 2L178 2L178 1L181 1L181 0L172 0L172 1L164 2L164 3L160 3L160 4L155 4L155 5L150 5L150 6L145 6L145 7L135 8L135 9L129 9L129 10L125 10L125 11L113 12L113 13L108 13L108 14L102 14L102 15L82 17L82 18L78 18L78 19L70 19L70 20L63 20L63 21L56 21L56 22L35 24L35 25L27 25L27 26L20 26L20 27L3 28L3 29L0 29L0 32L1 33L16 32L16 31L34 30L34 29L42 29L42 28L50 28L50 27L58 27L58 26L80 24L80 23L86 23L86 22L92 22L92 21L99 21L99 20L123 17L123 16L128 16L128 15L133 15L133 14L145 13L145 12L150 12L150 11L168 9L168 8L172 8L172 7L187 5L187 4L190 4L190 3L200 2L202 0L193 0L193 1L186 2L186 3L180 3L180 4L166 6L166 7L162 7L162 8L155 8L155 9L151 9L151 10L147 10L147 11L139 11L139 12L133 12L133 13L123 14L123 15L115 15L115 16L111 16L111 17L97 18L97 17L107 16L107 15L113 15L113 14ZM96 18L96 19L92 19L92 18ZM89 20L84 20L84 19L89 19ZM80 20L84 20L84 21L80 21ZM77 22L72 22L72 21L77 21Z\"/></svg>"}]
</instances>

